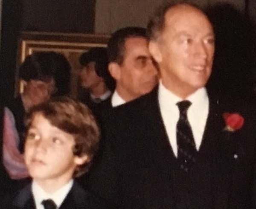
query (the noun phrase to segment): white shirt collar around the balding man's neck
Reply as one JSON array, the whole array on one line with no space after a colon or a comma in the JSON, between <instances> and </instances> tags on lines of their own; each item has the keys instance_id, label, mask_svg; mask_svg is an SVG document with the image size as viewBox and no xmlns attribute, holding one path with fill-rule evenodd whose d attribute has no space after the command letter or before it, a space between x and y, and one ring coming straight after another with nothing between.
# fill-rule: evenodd
<instances>
[{"instance_id":1,"label":"white shirt collar around the balding man's neck","mask_svg":"<svg viewBox=\"0 0 256 209\"><path fill-rule=\"evenodd\" d=\"M162 104L163 108L169 108L170 105L176 105L177 102L183 101L184 99L181 99L180 97L176 96L174 93L172 93L170 90L168 90L160 81L159 83L159 102ZM194 93L189 95L185 100L189 100L192 102L193 106L200 107L204 102L208 100L207 96L207 90L205 87L202 87L198 90L196 90Z\"/></svg>"}]
</instances>

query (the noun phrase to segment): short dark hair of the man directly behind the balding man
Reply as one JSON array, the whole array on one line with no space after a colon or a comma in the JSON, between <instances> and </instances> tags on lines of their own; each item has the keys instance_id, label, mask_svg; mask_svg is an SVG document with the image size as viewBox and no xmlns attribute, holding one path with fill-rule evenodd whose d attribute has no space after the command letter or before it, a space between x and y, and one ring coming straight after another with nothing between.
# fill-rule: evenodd
<instances>
[{"instance_id":1,"label":"short dark hair of the man directly behind the balding man","mask_svg":"<svg viewBox=\"0 0 256 209\"><path fill-rule=\"evenodd\" d=\"M146 29L141 27L126 27L114 32L108 41L108 60L122 64L125 52L125 40L134 37L142 37L148 40Z\"/></svg>"}]
</instances>

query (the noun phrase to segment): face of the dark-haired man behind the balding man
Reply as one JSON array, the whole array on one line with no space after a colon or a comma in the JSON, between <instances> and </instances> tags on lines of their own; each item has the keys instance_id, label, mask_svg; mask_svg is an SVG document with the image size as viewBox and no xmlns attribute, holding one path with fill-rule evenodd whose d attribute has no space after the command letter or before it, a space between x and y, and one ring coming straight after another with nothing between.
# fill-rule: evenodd
<instances>
[{"instance_id":1,"label":"face of the dark-haired man behind the balding man","mask_svg":"<svg viewBox=\"0 0 256 209\"><path fill-rule=\"evenodd\" d=\"M148 41L142 37L127 38L120 76L117 83L131 98L150 92L157 84L157 69L148 50Z\"/></svg>"}]
</instances>

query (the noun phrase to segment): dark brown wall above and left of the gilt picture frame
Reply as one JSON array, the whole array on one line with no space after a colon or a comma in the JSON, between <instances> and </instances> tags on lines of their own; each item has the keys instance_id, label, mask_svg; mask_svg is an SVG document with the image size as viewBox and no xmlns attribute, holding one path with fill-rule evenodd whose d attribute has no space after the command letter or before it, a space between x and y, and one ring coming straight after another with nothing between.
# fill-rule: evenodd
<instances>
[{"instance_id":1,"label":"dark brown wall above and left of the gilt picture frame","mask_svg":"<svg viewBox=\"0 0 256 209\"><path fill-rule=\"evenodd\" d=\"M95 0L2 0L0 101L15 90L20 31L93 33Z\"/></svg>"}]
</instances>

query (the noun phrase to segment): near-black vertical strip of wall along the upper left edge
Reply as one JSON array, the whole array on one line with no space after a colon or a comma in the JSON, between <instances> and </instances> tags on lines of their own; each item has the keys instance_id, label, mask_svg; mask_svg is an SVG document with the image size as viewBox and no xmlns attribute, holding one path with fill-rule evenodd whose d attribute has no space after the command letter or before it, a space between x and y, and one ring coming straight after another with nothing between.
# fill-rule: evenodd
<instances>
[{"instance_id":1,"label":"near-black vertical strip of wall along the upper left edge","mask_svg":"<svg viewBox=\"0 0 256 209\"><path fill-rule=\"evenodd\" d=\"M17 40L21 26L20 0L2 1L2 30L0 48L0 101L14 93Z\"/></svg>"}]
</instances>

